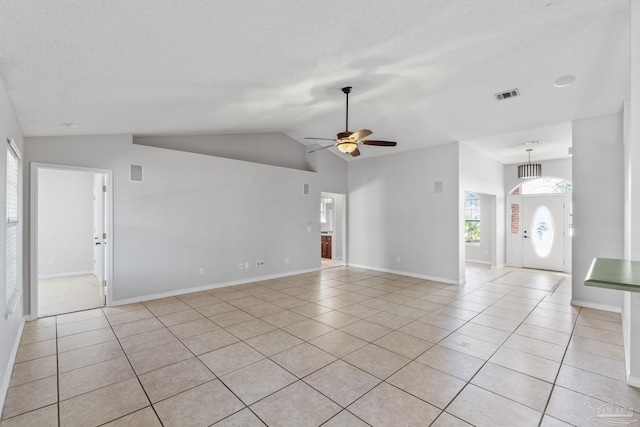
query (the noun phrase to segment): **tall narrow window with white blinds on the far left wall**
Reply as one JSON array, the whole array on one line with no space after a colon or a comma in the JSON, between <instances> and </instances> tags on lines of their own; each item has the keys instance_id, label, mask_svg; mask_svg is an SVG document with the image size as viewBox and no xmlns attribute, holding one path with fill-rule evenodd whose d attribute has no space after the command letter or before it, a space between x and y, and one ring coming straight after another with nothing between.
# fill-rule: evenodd
<instances>
[{"instance_id":1,"label":"tall narrow window with white blinds on the far left wall","mask_svg":"<svg viewBox=\"0 0 640 427\"><path fill-rule=\"evenodd\" d=\"M18 282L18 169L20 151L12 139L7 143L7 250L6 250L6 302L7 316L15 310L22 286Z\"/></svg>"}]
</instances>

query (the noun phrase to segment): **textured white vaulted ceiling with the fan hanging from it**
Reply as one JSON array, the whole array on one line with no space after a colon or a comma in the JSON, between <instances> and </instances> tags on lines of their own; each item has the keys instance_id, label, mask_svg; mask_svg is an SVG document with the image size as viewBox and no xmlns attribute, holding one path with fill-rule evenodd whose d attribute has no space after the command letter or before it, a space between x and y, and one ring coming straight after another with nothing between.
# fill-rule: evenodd
<instances>
[{"instance_id":1,"label":"textured white vaulted ceiling with the fan hanging from it","mask_svg":"<svg viewBox=\"0 0 640 427\"><path fill-rule=\"evenodd\" d=\"M360 158L461 140L487 151L492 135L542 139L620 111L628 1L3 0L0 76L26 136L280 131L307 144L344 130L350 85L350 130L398 141Z\"/></svg>"}]
</instances>

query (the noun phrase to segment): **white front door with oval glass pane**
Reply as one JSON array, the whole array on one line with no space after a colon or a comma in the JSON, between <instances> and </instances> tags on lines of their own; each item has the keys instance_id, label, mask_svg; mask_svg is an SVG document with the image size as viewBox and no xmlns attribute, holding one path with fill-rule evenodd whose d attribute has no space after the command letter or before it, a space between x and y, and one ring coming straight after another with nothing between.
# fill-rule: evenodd
<instances>
[{"instance_id":1,"label":"white front door with oval glass pane","mask_svg":"<svg viewBox=\"0 0 640 427\"><path fill-rule=\"evenodd\" d=\"M523 267L564 270L564 209L563 196L523 197Z\"/></svg>"}]
</instances>

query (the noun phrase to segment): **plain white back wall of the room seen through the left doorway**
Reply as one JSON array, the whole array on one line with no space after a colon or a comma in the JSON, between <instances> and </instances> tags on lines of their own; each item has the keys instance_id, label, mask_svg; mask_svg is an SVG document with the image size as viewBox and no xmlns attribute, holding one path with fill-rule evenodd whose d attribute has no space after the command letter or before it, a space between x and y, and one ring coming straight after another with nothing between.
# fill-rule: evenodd
<instances>
[{"instance_id":1,"label":"plain white back wall of the room seen through the left doorway","mask_svg":"<svg viewBox=\"0 0 640 427\"><path fill-rule=\"evenodd\" d=\"M38 182L39 276L92 273L93 174L41 170Z\"/></svg>"}]
</instances>

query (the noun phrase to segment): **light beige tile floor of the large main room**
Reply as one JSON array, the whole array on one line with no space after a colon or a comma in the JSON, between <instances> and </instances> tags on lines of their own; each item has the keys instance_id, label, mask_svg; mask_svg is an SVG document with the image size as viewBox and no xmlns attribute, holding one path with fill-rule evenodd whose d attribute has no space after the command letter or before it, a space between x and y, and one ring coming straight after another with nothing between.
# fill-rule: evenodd
<instances>
[{"instance_id":1,"label":"light beige tile floor of the large main room","mask_svg":"<svg viewBox=\"0 0 640 427\"><path fill-rule=\"evenodd\" d=\"M571 306L567 275L467 277L337 267L28 322L1 424L603 425L616 405L640 419L624 412L640 391L619 315Z\"/></svg>"}]
</instances>

